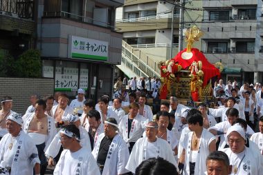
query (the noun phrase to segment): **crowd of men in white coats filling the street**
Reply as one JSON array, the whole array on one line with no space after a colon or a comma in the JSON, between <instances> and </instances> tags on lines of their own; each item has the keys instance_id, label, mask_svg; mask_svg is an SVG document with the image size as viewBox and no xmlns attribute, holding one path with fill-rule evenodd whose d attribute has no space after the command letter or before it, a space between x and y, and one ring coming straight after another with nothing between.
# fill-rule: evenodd
<instances>
[{"instance_id":1,"label":"crowd of men in white coats filling the street","mask_svg":"<svg viewBox=\"0 0 263 175\"><path fill-rule=\"evenodd\" d=\"M118 81L120 81L118 83ZM263 172L263 88L215 84L210 108L170 96L153 114L158 79L118 79L113 98L76 99L55 92L30 96L25 114L4 96L0 174L258 174ZM128 85L129 90L126 90ZM256 132L259 130L260 132Z\"/></svg>"}]
</instances>

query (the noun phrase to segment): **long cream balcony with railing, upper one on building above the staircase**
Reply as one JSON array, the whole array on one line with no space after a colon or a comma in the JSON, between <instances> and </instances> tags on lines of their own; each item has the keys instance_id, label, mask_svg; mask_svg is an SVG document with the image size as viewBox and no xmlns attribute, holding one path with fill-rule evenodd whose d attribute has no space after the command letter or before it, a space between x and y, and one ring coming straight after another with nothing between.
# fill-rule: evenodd
<instances>
[{"instance_id":1,"label":"long cream balcony with railing, upper one on building above the staircase","mask_svg":"<svg viewBox=\"0 0 263 175\"><path fill-rule=\"evenodd\" d=\"M118 19L116 20L116 28L120 28L118 32L157 30L171 28L171 23L171 14L158 14L149 17ZM179 28L179 14L174 14L174 24L177 24L174 25L174 28Z\"/></svg>"}]
</instances>

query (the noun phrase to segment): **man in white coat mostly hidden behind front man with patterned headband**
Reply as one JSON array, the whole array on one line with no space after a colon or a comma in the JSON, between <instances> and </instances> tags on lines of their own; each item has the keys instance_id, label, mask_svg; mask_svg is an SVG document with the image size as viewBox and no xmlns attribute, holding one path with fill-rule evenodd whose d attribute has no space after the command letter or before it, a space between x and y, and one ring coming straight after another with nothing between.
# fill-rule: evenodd
<instances>
[{"instance_id":1,"label":"man in white coat mostly hidden behind front man with patterned headband","mask_svg":"<svg viewBox=\"0 0 263 175\"><path fill-rule=\"evenodd\" d=\"M86 147L87 150L91 152L91 141L89 139L89 133L87 132L87 130L84 129L84 127L80 125L80 117L76 114L67 114L63 117L62 121L64 121L64 123L66 124L74 124L76 127L78 127L78 130L80 130L80 145L82 147ZM57 134L53 138L53 141L51 141L51 144L48 146L45 152L46 157L48 158L48 165L55 165L54 158L57 159L56 156L60 154L60 147L60 132L57 132Z\"/></svg>"}]
</instances>

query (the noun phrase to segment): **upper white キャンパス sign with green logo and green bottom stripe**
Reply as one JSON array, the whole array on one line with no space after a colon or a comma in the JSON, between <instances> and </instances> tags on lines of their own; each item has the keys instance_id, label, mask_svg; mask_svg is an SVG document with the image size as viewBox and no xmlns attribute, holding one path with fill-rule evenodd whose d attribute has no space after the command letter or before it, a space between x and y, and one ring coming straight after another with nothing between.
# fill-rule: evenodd
<instances>
[{"instance_id":1,"label":"upper white \u30ad\u30e3\u30f3\u30d1\u30b9 sign with green logo and green bottom stripe","mask_svg":"<svg viewBox=\"0 0 263 175\"><path fill-rule=\"evenodd\" d=\"M69 35L68 57L72 59L108 60L108 42Z\"/></svg>"}]
</instances>

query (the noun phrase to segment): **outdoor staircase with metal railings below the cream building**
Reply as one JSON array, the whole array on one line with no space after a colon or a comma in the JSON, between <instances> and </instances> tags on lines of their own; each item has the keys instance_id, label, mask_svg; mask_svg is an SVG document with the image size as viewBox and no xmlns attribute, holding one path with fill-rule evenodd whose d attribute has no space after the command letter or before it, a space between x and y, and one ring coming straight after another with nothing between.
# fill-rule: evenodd
<instances>
[{"instance_id":1,"label":"outdoor staircase with metal railings below the cream building","mask_svg":"<svg viewBox=\"0 0 263 175\"><path fill-rule=\"evenodd\" d=\"M149 56L134 50L131 45L123 41L121 65L117 65L128 76L156 76L160 78L158 63Z\"/></svg>"}]
</instances>

